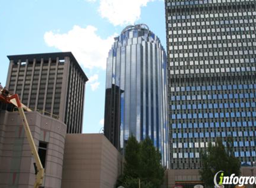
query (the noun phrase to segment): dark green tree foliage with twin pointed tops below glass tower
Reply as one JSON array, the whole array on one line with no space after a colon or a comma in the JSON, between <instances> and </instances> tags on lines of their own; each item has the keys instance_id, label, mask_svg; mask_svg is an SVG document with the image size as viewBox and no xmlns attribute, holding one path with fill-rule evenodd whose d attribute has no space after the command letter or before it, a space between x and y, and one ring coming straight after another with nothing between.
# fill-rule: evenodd
<instances>
[{"instance_id":1,"label":"dark green tree foliage with twin pointed tops below glass tower","mask_svg":"<svg viewBox=\"0 0 256 188\"><path fill-rule=\"evenodd\" d=\"M161 153L155 149L149 137L138 143L131 136L126 145L125 161L124 173L118 178L117 187L138 188L138 179L141 188L159 188L163 183Z\"/></svg>"}]
</instances>

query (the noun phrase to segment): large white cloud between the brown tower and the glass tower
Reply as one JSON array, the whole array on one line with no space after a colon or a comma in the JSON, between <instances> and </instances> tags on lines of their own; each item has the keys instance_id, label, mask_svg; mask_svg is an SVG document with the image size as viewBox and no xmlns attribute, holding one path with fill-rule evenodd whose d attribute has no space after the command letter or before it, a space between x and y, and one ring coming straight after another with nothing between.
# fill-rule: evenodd
<instances>
[{"instance_id":1,"label":"large white cloud between the brown tower and the glass tower","mask_svg":"<svg viewBox=\"0 0 256 188\"><path fill-rule=\"evenodd\" d=\"M116 34L102 39L96 31L97 28L92 25L88 25L86 28L75 25L70 31L63 34L59 31L46 32L44 41L48 46L63 52L71 51L85 68L105 69L108 52Z\"/></svg>"}]
</instances>

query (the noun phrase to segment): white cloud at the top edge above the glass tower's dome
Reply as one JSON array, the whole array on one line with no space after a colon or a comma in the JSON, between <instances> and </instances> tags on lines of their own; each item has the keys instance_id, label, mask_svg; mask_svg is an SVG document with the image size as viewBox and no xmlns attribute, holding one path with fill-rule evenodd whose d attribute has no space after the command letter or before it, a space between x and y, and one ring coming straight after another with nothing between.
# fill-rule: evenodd
<instances>
[{"instance_id":1,"label":"white cloud at the top edge above the glass tower's dome","mask_svg":"<svg viewBox=\"0 0 256 188\"><path fill-rule=\"evenodd\" d=\"M155 0L100 0L98 11L113 25L134 24L140 18L141 8Z\"/></svg>"}]
</instances>

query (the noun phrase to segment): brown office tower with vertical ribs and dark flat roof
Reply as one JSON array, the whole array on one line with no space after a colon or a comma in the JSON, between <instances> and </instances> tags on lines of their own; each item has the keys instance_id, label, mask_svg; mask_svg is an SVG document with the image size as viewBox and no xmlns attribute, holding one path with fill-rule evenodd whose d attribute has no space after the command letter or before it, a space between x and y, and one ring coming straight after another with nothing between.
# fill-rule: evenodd
<instances>
[{"instance_id":1,"label":"brown office tower with vertical ribs and dark flat roof","mask_svg":"<svg viewBox=\"0 0 256 188\"><path fill-rule=\"evenodd\" d=\"M8 56L7 88L22 103L81 133L85 82L88 78L71 52Z\"/></svg>"}]
</instances>

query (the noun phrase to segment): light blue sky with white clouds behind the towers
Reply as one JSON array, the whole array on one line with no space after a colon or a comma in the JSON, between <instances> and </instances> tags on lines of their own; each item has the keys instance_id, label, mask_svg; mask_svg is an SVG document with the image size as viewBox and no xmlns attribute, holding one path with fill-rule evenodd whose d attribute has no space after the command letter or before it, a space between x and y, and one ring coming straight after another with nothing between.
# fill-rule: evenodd
<instances>
[{"instance_id":1,"label":"light blue sky with white clouds behind the towers","mask_svg":"<svg viewBox=\"0 0 256 188\"><path fill-rule=\"evenodd\" d=\"M141 23L166 49L164 0L0 0L0 82L6 83L7 55L71 51L89 78L83 133L99 133L113 37Z\"/></svg>"}]
</instances>

